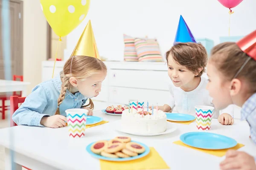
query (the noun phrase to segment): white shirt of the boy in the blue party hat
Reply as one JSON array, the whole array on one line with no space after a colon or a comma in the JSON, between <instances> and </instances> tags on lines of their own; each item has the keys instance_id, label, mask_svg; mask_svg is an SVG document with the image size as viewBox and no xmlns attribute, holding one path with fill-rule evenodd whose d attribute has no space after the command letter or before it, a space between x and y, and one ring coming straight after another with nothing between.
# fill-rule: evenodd
<instances>
[{"instance_id":1,"label":"white shirt of the boy in the blue party hat","mask_svg":"<svg viewBox=\"0 0 256 170\"><path fill-rule=\"evenodd\" d=\"M209 96L209 91L206 89L207 83L208 80L205 77L201 77L201 82L197 88L192 91L183 91L170 82L170 99L168 105L172 108L172 113L185 113L195 116L195 106L197 105L214 107L212 98ZM212 118L218 119L218 116L222 113L228 113L233 117L234 105L229 105L221 111L214 109Z\"/></svg>"}]
</instances>

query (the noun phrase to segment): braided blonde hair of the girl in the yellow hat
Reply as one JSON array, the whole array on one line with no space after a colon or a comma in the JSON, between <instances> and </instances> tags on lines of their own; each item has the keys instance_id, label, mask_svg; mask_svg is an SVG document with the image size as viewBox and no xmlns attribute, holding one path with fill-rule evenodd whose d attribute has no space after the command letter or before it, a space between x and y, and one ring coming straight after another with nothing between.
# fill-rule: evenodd
<instances>
[{"instance_id":1,"label":"braided blonde hair of the girl in the yellow hat","mask_svg":"<svg viewBox=\"0 0 256 170\"><path fill-rule=\"evenodd\" d=\"M61 73L62 85L61 85L60 96L58 98L58 108L55 112L55 115L60 114L59 106L65 99L66 91L67 90L70 91L72 88L72 85L70 84L70 77L75 77L79 81L83 81L87 77L90 77L99 71L107 71L106 65L99 59L96 59L94 57L87 57L87 56L70 57L65 63L63 71ZM93 101L91 99L89 100L90 100L89 104L85 105L85 107L90 106L89 108L93 109L94 108Z\"/></svg>"}]
</instances>

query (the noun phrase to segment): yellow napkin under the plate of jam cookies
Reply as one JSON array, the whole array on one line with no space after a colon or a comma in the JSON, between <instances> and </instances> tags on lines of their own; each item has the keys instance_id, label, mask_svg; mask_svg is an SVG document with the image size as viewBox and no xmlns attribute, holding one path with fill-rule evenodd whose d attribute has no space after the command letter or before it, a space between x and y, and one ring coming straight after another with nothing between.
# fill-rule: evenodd
<instances>
[{"instance_id":1,"label":"yellow napkin under the plate of jam cookies","mask_svg":"<svg viewBox=\"0 0 256 170\"><path fill-rule=\"evenodd\" d=\"M147 156L132 161L104 161L100 160L101 170L149 170L149 169L169 169L166 162L159 153L150 147Z\"/></svg>"}]
</instances>

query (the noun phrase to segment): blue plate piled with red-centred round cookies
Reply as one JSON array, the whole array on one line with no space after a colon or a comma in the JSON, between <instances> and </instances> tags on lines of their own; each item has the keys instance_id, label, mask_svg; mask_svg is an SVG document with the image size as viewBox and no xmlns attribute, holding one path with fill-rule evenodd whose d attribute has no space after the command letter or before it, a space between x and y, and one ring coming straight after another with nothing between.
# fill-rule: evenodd
<instances>
[{"instance_id":1,"label":"blue plate piled with red-centred round cookies","mask_svg":"<svg viewBox=\"0 0 256 170\"><path fill-rule=\"evenodd\" d=\"M147 156L150 149L143 143L132 141L128 136L90 143L86 150L90 155L107 161L131 161Z\"/></svg>"}]
</instances>

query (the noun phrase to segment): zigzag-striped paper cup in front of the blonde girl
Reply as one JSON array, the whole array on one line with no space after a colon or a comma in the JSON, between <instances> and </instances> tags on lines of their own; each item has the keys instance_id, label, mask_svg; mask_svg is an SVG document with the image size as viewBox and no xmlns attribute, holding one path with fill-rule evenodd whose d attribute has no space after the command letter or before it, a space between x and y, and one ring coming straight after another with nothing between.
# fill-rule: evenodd
<instances>
[{"instance_id":1,"label":"zigzag-striped paper cup in front of the blonde girl","mask_svg":"<svg viewBox=\"0 0 256 170\"><path fill-rule=\"evenodd\" d=\"M68 135L71 138L84 137L88 110L75 108L67 109L65 112L67 114Z\"/></svg>"}]
</instances>

